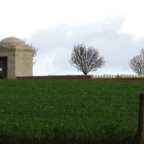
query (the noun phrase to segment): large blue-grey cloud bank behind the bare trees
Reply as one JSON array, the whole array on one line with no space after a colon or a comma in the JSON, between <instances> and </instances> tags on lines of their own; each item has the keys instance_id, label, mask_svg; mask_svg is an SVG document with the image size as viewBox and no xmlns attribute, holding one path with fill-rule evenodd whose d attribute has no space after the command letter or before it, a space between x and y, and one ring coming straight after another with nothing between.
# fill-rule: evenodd
<instances>
[{"instance_id":1,"label":"large blue-grey cloud bank behind the bare trees","mask_svg":"<svg viewBox=\"0 0 144 144\"><path fill-rule=\"evenodd\" d=\"M98 74L134 74L128 63L140 53L144 41L134 43L131 35L118 33L124 21L125 17L117 17L39 29L26 40L39 48L34 75L83 74L69 63L73 46L78 43L93 46L104 56L106 65L97 70Z\"/></svg>"}]
</instances>

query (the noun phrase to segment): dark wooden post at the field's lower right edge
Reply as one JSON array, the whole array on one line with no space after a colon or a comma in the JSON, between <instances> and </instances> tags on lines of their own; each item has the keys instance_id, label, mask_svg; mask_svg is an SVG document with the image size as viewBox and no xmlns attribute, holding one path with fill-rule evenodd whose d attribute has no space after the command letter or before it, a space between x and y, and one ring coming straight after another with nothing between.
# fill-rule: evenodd
<instances>
[{"instance_id":1,"label":"dark wooden post at the field's lower right edge","mask_svg":"<svg viewBox=\"0 0 144 144\"><path fill-rule=\"evenodd\" d=\"M138 144L144 144L144 91L139 99Z\"/></svg>"}]
</instances>

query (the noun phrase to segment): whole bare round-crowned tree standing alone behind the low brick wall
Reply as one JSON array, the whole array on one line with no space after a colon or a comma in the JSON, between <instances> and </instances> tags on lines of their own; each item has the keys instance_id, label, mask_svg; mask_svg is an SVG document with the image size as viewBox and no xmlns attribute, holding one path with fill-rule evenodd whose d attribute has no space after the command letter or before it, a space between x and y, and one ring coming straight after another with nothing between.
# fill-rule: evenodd
<instances>
[{"instance_id":1,"label":"whole bare round-crowned tree standing alone behind the low brick wall","mask_svg":"<svg viewBox=\"0 0 144 144\"><path fill-rule=\"evenodd\" d=\"M87 75L90 71L96 71L105 64L104 58L99 58L99 52L93 47L88 47L88 50L83 44L74 46L71 59L69 60L72 66L78 71L82 71Z\"/></svg>"}]
</instances>

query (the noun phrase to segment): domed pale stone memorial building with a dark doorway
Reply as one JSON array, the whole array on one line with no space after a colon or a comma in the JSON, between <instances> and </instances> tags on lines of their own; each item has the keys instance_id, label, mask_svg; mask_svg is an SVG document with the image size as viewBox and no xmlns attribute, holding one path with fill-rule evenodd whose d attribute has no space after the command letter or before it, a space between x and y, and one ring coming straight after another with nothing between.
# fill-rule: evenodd
<instances>
[{"instance_id":1,"label":"domed pale stone memorial building with a dark doorway","mask_svg":"<svg viewBox=\"0 0 144 144\"><path fill-rule=\"evenodd\" d=\"M8 37L0 41L0 69L3 79L32 76L33 49L22 40Z\"/></svg>"}]
</instances>

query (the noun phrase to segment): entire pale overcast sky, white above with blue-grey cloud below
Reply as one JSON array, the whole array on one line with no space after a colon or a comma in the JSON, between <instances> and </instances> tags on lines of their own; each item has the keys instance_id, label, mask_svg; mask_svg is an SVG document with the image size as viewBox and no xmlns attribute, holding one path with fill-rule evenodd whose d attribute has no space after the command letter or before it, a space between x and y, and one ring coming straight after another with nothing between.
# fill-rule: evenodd
<instances>
[{"instance_id":1,"label":"entire pale overcast sky, white above with blue-grey cloud below","mask_svg":"<svg viewBox=\"0 0 144 144\"><path fill-rule=\"evenodd\" d=\"M0 0L0 40L39 48L33 75L83 75L69 63L73 46L96 48L106 64L89 74L135 74L144 48L143 0Z\"/></svg>"}]
</instances>

